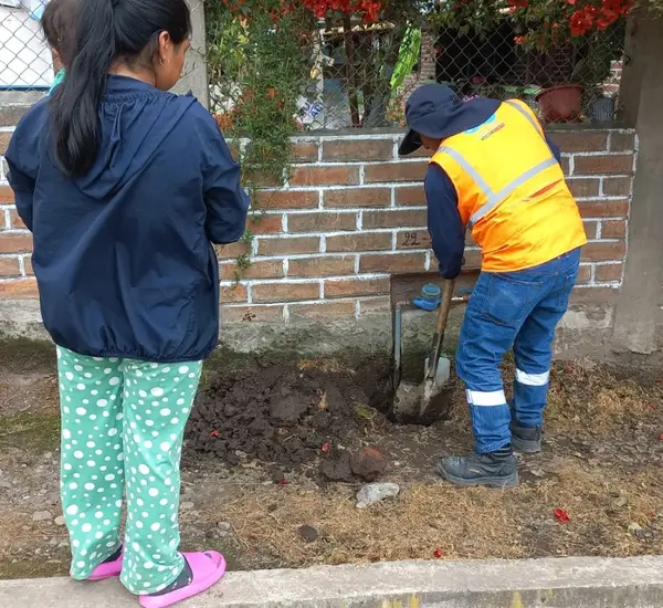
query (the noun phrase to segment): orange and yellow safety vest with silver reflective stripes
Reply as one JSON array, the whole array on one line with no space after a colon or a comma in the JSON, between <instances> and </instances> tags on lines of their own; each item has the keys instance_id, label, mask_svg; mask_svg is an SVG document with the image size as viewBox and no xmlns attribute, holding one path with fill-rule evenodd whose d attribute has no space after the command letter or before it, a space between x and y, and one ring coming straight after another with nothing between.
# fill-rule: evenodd
<instances>
[{"instance_id":1,"label":"orange and yellow safety vest with silver reflective stripes","mask_svg":"<svg viewBox=\"0 0 663 608\"><path fill-rule=\"evenodd\" d=\"M578 206L527 104L503 103L487 122L432 156L450 177L482 270L525 270L587 243Z\"/></svg>"}]
</instances>

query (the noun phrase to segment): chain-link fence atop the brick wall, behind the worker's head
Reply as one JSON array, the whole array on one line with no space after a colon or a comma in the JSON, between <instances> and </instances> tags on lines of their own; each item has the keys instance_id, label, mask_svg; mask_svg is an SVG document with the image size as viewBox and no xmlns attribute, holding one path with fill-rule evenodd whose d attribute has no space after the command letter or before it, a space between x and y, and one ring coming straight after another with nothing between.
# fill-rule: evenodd
<instances>
[{"instance_id":1,"label":"chain-link fence atop the brick wall, behind the worker's head","mask_svg":"<svg viewBox=\"0 0 663 608\"><path fill-rule=\"evenodd\" d=\"M302 92L301 128L345 129L404 124L412 91L449 84L462 97L519 97L545 122L609 122L619 103L623 27L548 52L519 44L508 19L491 31L393 23L320 28L309 50L313 83ZM211 82L214 93L232 83Z\"/></svg>"}]
</instances>

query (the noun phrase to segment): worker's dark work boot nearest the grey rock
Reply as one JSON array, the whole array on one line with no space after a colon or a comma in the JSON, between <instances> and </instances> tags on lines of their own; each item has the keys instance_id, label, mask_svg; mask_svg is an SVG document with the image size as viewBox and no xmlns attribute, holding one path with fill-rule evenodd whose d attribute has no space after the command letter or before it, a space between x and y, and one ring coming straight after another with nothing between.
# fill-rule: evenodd
<instances>
[{"instance_id":1,"label":"worker's dark work boot nearest the grey rock","mask_svg":"<svg viewBox=\"0 0 663 608\"><path fill-rule=\"evenodd\" d=\"M518 485L518 467L511 448L497 452L466 457L448 457L438 463L440 474L455 485L487 485L514 488Z\"/></svg>"}]
</instances>

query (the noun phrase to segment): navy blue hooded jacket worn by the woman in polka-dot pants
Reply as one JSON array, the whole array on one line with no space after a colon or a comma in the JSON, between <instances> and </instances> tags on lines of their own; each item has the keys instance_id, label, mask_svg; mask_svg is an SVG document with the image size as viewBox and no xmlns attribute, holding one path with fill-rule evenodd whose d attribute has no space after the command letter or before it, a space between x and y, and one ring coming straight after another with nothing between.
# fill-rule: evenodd
<instances>
[{"instance_id":1,"label":"navy blue hooded jacket worn by the woman in polka-dot pants","mask_svg":"<svg viewBox=\"0 0 663 608\"><path fill-rule=\"evenodd\" d=\"M199 360L219 334L212 243L244 231L249 201L217 123L191 95L110 76L93 168L65 177L49 99L7 151L17 210L54 342L98 357Z\"/></svg>"}]
</instances>

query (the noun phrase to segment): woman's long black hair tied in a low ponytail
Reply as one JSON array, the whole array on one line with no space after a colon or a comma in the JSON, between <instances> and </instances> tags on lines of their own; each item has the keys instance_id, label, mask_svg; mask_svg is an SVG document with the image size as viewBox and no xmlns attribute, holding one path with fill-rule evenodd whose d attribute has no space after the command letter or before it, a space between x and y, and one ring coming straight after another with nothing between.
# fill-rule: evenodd
<instances>
[{"instance_id":1,"label":"woman's long black hair tied in a low ponytail","mask_svg":"<svg viewBox=\"0 0 663 608\"><path fill-rule=\"evenodd\" d=\"M114 63L150 64L158 38L191 33L185 0L80 0L71 63L51 99L51 133L61 169L85 175L99 146L99 104Z\"/></svg>"}]
</instances>

